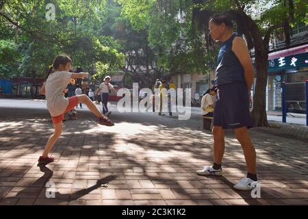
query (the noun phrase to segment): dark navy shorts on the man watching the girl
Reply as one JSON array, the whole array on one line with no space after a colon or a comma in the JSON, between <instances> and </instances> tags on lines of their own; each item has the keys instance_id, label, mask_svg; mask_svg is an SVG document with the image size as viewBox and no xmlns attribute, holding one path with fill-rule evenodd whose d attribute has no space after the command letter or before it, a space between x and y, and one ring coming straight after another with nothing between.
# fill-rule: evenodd
<instances>
[{"instance_id":1,"label":"dark navy shorts on the man watching the girl","mask_svg":"<svg viewBox=\"0 0 308 219\"><path fill-rule=\"evenodd\" d=\"M236 81L218 86L214 109L214 126L222 129L251 128L246 83Z\"/></svg>"}]
</instances>

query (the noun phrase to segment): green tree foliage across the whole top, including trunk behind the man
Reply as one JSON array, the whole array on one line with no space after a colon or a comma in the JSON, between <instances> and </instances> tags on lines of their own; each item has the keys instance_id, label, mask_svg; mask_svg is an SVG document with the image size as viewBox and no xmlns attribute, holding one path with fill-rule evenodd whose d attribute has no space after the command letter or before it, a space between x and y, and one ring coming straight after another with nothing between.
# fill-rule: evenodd
<instances>
[{"instance_id":1,"label":"green tree foliage across the whole top, including trunk behind the man","mask_svg":"<svg viewBox=\"0 0 308 219\"><path fill-rule=\"evenodd\" d=\"M55 6L54 19L52 15ZM220 44L209 18L225 13L253 53L253 118L268 125L265 94L270 40L308 22L307 0L0 0L0 77L42 77L55 55L94 79L124 72L141 87L175 73L207 74ZM50 16L51 17L51 16Z\"/></svg>"}]
</instances>

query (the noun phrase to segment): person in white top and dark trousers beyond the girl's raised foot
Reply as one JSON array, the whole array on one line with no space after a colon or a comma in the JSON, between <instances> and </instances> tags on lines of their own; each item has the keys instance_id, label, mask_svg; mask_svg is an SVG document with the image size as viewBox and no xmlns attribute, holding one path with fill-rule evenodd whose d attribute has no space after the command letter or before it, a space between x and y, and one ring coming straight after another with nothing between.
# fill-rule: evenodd
<instances>
[{"instance_id":1,"label":"person in white top and dark trousers beyond the girl's raised foot","mask_svg":"<svg viewBox=\"0 0 308 219\"><path fill-rule=\"evenodd\" d=\"M116 92L116 89L114 89L114 86L110 83L110 76L106 76L104 78L104 82L99 85L99 89L97 90L97 94L101 93L101 101L103 103L103 114L107 117L110 116L111 112L108 112L108 99L109 99L109 93L111 90Z\"/></svg>"}]
</instances>

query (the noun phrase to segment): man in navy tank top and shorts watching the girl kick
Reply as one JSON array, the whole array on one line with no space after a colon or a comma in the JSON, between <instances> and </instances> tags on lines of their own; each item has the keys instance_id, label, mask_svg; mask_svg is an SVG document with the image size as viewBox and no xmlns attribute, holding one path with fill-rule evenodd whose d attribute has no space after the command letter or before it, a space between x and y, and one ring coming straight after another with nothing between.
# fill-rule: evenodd
<instances>
[{"instance_id":1,"label":"man in navy tank top and shorts watching the girl kick","mask_svg":"<svg viewBox=\"0 0 308 219\"><path fill-rule=\"evenodd\" d=\"M211 38L222 42L218 53L215 83L218 94L214 110L214 165L198 170L198 175L222 175L224 129L233 129L244 151L247 176L234 186L252 190L259 185L256 174L256 154L248 128L252 127L249 97L253 85L253 65L244 40L233 33L233 23L224 14L209 20Z\"/></svg>"}]
</instances>

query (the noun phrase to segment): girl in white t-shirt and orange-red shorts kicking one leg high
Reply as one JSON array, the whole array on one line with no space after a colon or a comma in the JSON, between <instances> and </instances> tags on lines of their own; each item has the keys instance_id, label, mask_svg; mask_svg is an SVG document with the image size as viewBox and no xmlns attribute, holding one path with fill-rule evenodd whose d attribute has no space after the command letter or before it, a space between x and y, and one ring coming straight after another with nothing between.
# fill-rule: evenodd
<instances>
[{"instance_id":1,"label":"girl in white t-shirt and orange-red shorts kicking one leg high","mask_svg":"<svg viewBox=\"0 0 308 219\"><path fill-rule=\"evenodd\" d=\"M53 145L60 138L62 133L62 120L64 114L73 110L78 103L85 103L92 113L99 118L100 125L113 126L111 120L103 116L97 106L88 98L86 94L71 96L68 99L64 97L64 90L71 78L88 77L88 73L70 73L71 60L67 55L57 55L53 61L53 66L49 68L44 84L40 90L40 94L44 94L47 99L47 108L51 114L55 132L49 138L42 156L38 159L39 165L46 165L53 162L54 157L48 156ZM54 69L54 71L53 71Z\"/></svg>"}]
</instances>

